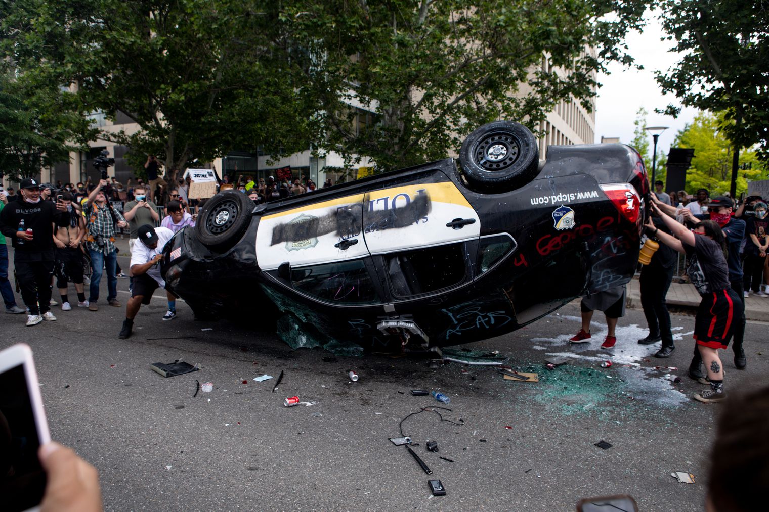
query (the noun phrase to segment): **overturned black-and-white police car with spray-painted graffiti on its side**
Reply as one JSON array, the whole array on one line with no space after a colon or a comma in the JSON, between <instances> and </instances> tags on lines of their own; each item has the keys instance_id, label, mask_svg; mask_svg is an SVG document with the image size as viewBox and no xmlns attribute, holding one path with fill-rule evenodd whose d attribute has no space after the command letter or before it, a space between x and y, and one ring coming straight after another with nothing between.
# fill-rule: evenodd
<instances>
[{"instance_id":1,"label":"overturned black-and-white police car with spray-painted graffiti on its side","mask_svg":"<svg viewBox=\"0 0 769 512\"><path fill-rule=\"evenodd\" d=\"M496 121L458 161L256 207L220 192L162 268L196 317L278 318L295 346L464 344L629 281L648 193L633 148L548 146L540 161L527 128Z\"/></svg>"}]
</instances>

